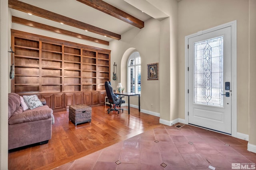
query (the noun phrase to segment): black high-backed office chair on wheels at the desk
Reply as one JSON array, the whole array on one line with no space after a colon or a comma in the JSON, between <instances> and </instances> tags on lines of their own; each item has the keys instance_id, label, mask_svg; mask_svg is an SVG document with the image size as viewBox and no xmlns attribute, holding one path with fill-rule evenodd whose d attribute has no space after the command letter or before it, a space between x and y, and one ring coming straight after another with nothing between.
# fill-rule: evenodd
<instances>
[{"instance_id":1,"label":"black high-backed office chair on wheels at the desk","mask_svg":"<svg viewBox=\"0 0 256 170\"><path fill-rule=\"evenodd\" d=\"M117 97L113 92L112 86L110 86L110 82L105 82L105 89L108 97L108 102L110 103L110 108L108 109L108 113L113 110L118 111L118 114L119 114L119 110L122 110L122 112L124 112L124 109L116 108L116 107L121 107L121 104L125 103L125 101L122 100L124 96ZM112 108L111 104L113 104L114 108Z\"/></svg>"}]
</instances>

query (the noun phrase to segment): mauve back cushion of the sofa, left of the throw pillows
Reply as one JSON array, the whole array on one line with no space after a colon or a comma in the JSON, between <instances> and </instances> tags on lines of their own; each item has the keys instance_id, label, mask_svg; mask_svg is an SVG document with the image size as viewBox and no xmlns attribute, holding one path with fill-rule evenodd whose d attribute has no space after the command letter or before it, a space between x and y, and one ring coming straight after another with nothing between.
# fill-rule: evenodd
<instances>
[{"instance_id":1,"label":"mauve back cushion of the sofa, left of the throw pillows","mask_svg":"<svg viewBox=\"0 0 256 170\"><path fill-rule=\"evenodd\" d=\"M14 111L20 107L20 95L16 93L8 94L8 119L12 116Z\"/></svg>"}]
</instances>

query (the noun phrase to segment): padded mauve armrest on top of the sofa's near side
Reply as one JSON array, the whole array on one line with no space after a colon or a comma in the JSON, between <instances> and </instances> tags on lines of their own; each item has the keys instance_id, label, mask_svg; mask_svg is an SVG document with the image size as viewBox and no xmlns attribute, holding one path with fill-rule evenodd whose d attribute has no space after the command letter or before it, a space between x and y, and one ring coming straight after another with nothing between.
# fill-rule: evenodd
<instances>
[{"instance_id":1,"label":"padded mauve armrest on top of the sofa's near side","mask_svg":"<svg viewBox=\"0 0 256 170\"><path fill-rule=\"evenodd\" d=\"M26 110L22 113L12 115L9 119L9 125L52 118L52 109L47 107L44 109Z\"/></svg>"}]
</instances>

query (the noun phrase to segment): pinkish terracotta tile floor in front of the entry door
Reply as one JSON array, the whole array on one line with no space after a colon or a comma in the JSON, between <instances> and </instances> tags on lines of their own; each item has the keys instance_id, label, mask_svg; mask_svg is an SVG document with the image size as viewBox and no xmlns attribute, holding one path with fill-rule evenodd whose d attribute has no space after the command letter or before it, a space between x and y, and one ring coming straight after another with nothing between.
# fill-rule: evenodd
<instances>
[{"instance_id":1,"label":"pinkish terracotta tile floor in front of the entry door","mask_svg":"<svg viewBox=\"0 0 256 170\"><path fill-rule=\"evenodd\" d=\"M247 151L247 143L190 125L161 125L54 170L249 169L255 167L256 153Z\"/></svg>"}]
</instances>

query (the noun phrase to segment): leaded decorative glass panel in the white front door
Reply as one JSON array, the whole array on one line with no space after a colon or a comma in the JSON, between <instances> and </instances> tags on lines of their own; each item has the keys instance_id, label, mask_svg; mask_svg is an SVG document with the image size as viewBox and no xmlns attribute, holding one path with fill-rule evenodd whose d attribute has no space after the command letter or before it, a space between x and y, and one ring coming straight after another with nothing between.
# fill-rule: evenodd
<instances>
[{"instance_id":1,"label":"leaded decorative glass panel in the white front door","mask_svg":"<svg viewBox=\"0 0 256 170\"><path fill-rule=\"evenodd\" d=\"M194 103L223 107L223 36L194 43Z\"/></svg>"}]
</instances>

